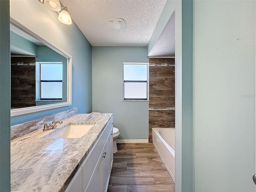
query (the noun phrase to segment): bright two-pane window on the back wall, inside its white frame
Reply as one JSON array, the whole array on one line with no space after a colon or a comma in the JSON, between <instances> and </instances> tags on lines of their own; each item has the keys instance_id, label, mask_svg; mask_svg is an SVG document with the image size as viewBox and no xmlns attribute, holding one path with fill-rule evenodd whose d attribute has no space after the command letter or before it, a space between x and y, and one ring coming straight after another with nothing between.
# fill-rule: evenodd
<instances>
[{"instance_id":1,"label":"bright two-pane window on the back wall, inside its white frame","mask_svg":"<svg viewBox=\"0 0 256 192\"><path fill-rule=\"evenodd\" d=\"M148 63L123 63L124 100L148 100Z\"/></svg>"}]
</instances>

